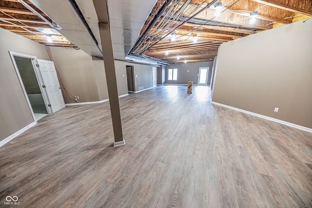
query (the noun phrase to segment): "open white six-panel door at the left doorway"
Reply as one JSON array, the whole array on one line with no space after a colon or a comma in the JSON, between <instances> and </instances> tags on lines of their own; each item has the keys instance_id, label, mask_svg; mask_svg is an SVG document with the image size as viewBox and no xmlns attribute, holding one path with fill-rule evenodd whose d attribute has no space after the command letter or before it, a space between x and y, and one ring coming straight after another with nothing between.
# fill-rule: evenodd
<instances>
[{"instance_id":1,"label":"open white six-panel door at the left doorway","mask_svg":"<svg viewBox=\"0 0 312 208\"><path fill-rule=\"evenodd\" d=\"M52 113L65 108L62 92L60 90L58 75L53 61L37 59L44 89L50 102Z\"/></svg>"}]
</instances>

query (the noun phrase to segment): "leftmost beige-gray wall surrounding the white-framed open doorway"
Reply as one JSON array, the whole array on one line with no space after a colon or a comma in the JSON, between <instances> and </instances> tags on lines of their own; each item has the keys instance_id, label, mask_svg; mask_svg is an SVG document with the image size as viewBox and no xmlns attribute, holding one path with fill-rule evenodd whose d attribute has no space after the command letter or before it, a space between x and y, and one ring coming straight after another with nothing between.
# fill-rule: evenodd
<instances>
[{"instance_id":1,"label":"leftmost beige-gray wall surrounding the white-framed open doorway","mask_svg":"<svg viewBox=\"0 0 312 208\"><path fill-rule=\"evenodd\" d=\"M44 45L0 28L0 141L34 122L9 51L50 60Z\"/></svg>"}]
</instances>

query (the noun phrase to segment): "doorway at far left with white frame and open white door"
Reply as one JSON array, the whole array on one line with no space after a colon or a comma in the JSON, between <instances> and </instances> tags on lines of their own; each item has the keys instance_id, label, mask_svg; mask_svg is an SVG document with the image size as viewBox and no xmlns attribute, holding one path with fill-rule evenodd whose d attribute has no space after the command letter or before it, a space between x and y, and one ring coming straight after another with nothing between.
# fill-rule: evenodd
<instances>
[{"instance_id":1,"label":"doorway at far left with white frame and open white door","mask_svg":"<svg viewBox=\"0 0 312 208\"><path fill-rule=\"evenodd\" d=\"M53 61L9 53L35 121L65 107Z\"/></svg>"}]
</instances>

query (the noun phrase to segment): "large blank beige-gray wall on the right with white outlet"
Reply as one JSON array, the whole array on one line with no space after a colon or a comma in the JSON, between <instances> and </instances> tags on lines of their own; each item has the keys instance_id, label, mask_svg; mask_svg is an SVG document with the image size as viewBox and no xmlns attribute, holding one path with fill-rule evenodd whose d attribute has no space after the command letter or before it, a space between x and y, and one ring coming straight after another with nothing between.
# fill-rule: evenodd
<instances>
[{"instance_id":1,"label":"large blank beige-gray wall on the right with white outlet","mask_svg":"<svg viewBox=\"0 0 312 208\"><path fill-rule=\"evenodd\" d=\"M298 21L221 44L213 101L312 129L311 34Z\"/></svg>"}]
</instances>

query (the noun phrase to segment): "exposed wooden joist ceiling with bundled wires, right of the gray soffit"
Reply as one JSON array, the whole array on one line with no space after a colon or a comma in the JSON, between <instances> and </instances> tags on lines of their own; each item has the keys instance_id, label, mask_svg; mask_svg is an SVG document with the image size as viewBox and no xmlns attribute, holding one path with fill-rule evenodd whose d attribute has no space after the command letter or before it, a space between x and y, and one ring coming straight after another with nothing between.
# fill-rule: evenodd
<instances>
[{"instance_id":1,"label":"exposed wooden joist ceiling with bundled wires, right of the gray soffit","mask_svg":"<svg viewBox=\"0 0 312 208\"><path fill-rule=\"evenodd\" d=\"M159 14L167 0L157 0L131 56L170 63L210 61L223 42L292 23L293 17L312 16L311 0L168 1Z\"/></svg>"}]
</instances>

